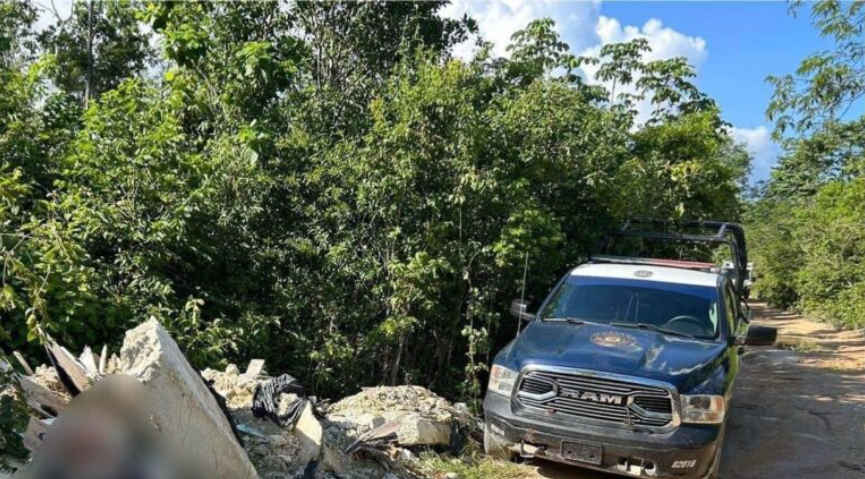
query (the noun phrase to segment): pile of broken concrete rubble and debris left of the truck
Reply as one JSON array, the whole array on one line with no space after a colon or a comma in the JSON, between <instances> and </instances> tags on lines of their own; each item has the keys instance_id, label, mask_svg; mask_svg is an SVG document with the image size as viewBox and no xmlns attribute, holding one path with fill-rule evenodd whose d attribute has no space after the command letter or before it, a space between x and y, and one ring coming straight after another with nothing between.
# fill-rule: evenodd
<instances>
[{"instance_id":1,"label":"pile of broken concrete rubble and debris left of the truck","mask_svg":"<svg viewBox=\"0 0 865 479\"><path fill-rule=\"evenodd\" d=\"M260 410L253 413L257 388L275 384L266 383L273 378L263 361L253 360L243 373L232 364L199 374L155 319L128 331L119 355L109 357L102 348L97 356L86 348L76 358L56 343L52 349L63 361L28 365L23 368L28 374L18 376L27 385L21 390L35 418L24 437L36 456L54 419L75 409L79 395L86 396L94 384L114 376L131 376L147 391L152 426L166 443L216 471L208 477L224 479L417 478L419 454L452 448L465 434L469 417L418 386L367 388L331 405L270 389L268 407L280 416L301 411L292 416L297 418L293 425L282 427L256 417L262 416Z\"/></svg>"}]
</instances>

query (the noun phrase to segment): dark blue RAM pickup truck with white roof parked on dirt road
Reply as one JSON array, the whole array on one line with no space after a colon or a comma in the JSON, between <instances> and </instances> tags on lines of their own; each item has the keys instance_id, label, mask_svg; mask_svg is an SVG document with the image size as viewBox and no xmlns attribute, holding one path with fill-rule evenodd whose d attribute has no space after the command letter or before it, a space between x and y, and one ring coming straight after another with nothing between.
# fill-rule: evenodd
<instances>
[{"instance_id":1,"label":"dark blue RAM pickup truck with white roof parked on dirt road","mask_svg":"<svg viewBox=\"0 0 865 479\"><path fill-rule=\"evenodd\" d=\"M666 251L728 246L732 267L595 255L536 312L515 300L512 313L528 324L493 361L487 454L632 477L717 477L740 355L776 332L748 325L739 225L678 225L714 232L706 235L635 229L643 223L612 236Z\"/></svg>"}]
</instances>

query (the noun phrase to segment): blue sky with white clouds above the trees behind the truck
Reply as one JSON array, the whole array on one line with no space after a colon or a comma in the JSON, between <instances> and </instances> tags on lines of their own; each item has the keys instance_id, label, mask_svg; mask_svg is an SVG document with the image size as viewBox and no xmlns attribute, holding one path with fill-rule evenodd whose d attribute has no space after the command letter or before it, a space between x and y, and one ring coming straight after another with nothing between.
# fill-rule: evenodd
<instances>
[{"instance_id":1,"label":"blue sky with white clouds above the trees behind the truck","mask_svg":"<svg viewBox=\"0 0 865 479\"><path fill-rule=\"evenodd\" d=\"M734 137L754 156L752 180L765 179L777 161L772 125L765 116L772 87L768 75L791 73L807 55L830 45L785 2L553 2L455 0L448 14L468 13L500 54L510 35L528 21L553 18L575 53L638 36L654 56L685 56L698 69L697 84L721 105Z\"/></svg>"}]
</instances>

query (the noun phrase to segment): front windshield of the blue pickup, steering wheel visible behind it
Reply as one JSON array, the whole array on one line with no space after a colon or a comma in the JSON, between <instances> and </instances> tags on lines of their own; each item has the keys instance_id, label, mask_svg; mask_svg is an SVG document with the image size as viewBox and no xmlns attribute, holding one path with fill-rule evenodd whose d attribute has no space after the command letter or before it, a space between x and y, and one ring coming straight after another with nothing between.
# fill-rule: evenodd
<instances>
[{"instance_id":1,"label":"front windshield of the blue pickup, steering wheel visible behind it","mask_svg":"<svg viewBox=\"0 0 865 479\"><path fill-rule=\"evenodd\" d=\"M716 338L720 324L716 288L584 276L569 277L541 318L645 327L697 339Z\"/></svg>"}]
</instances>

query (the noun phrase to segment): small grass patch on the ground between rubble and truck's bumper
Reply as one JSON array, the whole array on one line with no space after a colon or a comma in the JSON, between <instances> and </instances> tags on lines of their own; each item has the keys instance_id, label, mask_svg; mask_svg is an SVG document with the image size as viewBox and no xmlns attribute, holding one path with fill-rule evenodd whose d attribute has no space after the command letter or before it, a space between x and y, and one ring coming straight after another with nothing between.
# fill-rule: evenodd
<instances>
[{"instance_id":1,"label":"small grass patch on the ground between rubble and truck's bumper","mask_svg":"<svg viewBox=\"0 0 865 479\"><path fill-rule=\"evenodd\" d=\"M529 469L525 466L497 461L480 453L449 458L430 452L421 455L420 468L434 479L443 479L448 473L455 473L460 479L521 479L529 476Z\"/></svg>"}]
</instances>

